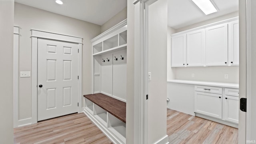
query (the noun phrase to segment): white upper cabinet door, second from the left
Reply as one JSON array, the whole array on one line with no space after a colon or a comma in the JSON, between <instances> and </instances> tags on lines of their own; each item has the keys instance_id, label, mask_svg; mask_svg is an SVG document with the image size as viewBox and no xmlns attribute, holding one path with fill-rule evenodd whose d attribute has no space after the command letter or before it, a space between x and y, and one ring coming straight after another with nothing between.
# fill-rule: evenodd
<instances>
[{"instance_id":1,"label":"white upper cabinet door, second from the left","mask_svg":"<svg viewBox=\"0 0 256 144\"><path fill-rule=\"evenodd\" d=\"M187 33L187 66L204 66L204 30Z\"/></svg>"}]
</instances>

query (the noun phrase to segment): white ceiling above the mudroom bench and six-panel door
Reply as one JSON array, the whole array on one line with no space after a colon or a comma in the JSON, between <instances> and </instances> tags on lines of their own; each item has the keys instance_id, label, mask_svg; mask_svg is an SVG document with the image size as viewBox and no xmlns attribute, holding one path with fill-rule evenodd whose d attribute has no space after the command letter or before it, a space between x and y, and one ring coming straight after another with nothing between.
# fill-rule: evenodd
<instances>
[{"instance_id":1,"label":"white ceiling above the mudroom bench and six-panel door","mask_svg":"<svg viewBox=\"0 0 256 144\"><path fill-rule=\"evenodd\" d=\"M15 0L56 14L102 25L127 6L127 0Z\"/></svg>"}]
</instances>

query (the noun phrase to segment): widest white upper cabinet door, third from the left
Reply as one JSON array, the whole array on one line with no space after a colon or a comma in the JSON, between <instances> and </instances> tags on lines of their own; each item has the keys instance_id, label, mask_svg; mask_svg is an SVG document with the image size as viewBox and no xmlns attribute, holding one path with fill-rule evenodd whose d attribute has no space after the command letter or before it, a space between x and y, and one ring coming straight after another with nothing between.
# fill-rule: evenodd
<instances>
[{"instance_id":1,"label":"widest white upper cabinet door, third from the left","mask_svg":"<svg viewBox=\"0 0 256 144\"><path fill-rule=\"evenodd\" d=\"M206 66L228 66L228 24L206 28Z\"/></svg>"}]
</instances>

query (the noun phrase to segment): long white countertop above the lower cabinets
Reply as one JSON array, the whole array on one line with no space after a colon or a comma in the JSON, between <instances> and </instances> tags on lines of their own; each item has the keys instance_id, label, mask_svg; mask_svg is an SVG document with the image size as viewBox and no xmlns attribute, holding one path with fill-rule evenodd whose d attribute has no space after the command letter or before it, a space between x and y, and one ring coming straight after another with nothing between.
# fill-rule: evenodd
<instances>
[{"instance_id":1,"label":"long white countertop above the lower cabinets","mask_svg":"<svg viewBox=\"0 0 256 144\"><path fill-rule=\"evenodd\" d=\"M220 86L225 88L239 88L239 84L224 83L224 82L204 82L204 81L194 81L194 80L167 80L167 82L182 83L182 84L197 84L197 85L205 85L205 86Z\"/></svg>"}]
</instances>

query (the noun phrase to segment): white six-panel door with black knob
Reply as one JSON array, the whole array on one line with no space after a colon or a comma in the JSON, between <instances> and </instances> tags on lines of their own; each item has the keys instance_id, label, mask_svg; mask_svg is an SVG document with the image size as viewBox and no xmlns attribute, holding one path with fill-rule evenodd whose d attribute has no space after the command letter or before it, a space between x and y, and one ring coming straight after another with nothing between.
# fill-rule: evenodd
<instances>
[{"instance_id":1,"label":"white six-panel door with black knob","mask_svg":"<svg viewBox=\"0 0 256 144\"><path fill-rule=\"evenodd\" d=\"M78 112L78 44L38 38L38 121Z\"/></svg>"}]
</instances>

